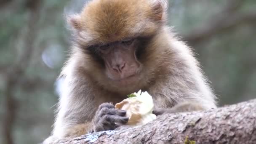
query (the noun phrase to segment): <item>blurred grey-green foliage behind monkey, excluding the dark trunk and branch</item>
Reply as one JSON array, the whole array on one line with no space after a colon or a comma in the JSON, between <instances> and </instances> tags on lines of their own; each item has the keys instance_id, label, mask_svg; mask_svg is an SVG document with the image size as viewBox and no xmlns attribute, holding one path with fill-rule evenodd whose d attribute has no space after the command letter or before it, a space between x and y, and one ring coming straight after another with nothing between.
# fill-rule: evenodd
<instances>
[{"instance_id":1,"label":"blurred grey-green foliage behind monkey, excluding the dark trunk and branch","mask_svg":"<svg viewBox=\"0 0 256 144\"><path fill-rule=\"evenodd\" d=\"M203 26L217 14L227 0L170 0L168 24L179 36ZM15 144L36 144L50 135L58 96L56 77L67 59L70 32L65 16L79 12L85 0L43 0L40 19L36 21L34 51L29 67L13 88L16 118L13 125ZM237 10L255 11L255 0L244 0ZM11 0L0 5L0 69L12 66L24 50L29 30L25 0ZM256 27L240 24L193 45L205 74L219 98L219 104L234 104L256 98ZM0 122L5 112L5 73L0 72ZM0 125L1 128L2 125ZM2 141L2 134L0 141Z\"/></svg>"}]
</instances>

